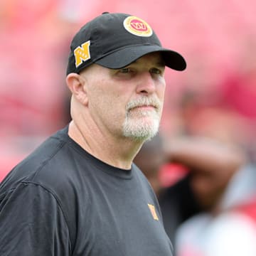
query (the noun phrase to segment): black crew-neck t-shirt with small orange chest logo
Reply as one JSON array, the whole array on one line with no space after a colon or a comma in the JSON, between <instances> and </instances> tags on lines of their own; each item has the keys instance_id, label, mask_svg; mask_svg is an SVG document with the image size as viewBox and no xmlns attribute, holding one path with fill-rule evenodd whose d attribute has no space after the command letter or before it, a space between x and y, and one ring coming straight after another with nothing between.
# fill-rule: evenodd
<instances>
[{"instance_id":1,"label":"black crew-neck t-shirt with small orange chest logo","mask_svg":"<svg viewBox=\"0 0 256 256\"><path fill-rule=\"evenodd\" d=\"M142 172L88 154L68 127L0 186L0 255L171 256L159 204Z\"/></svg>"}]
</instances>

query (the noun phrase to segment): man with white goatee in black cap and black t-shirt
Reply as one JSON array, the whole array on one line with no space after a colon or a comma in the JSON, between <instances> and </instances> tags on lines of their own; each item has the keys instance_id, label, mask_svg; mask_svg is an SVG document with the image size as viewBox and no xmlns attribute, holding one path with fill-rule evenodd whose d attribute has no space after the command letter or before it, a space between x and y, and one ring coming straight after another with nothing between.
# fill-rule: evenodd
<instances>
[{"instance_id":1,"label":"man with white goatee in black cap and black t-shirt","mask_svg":"<svg viewBox=\"0 0 256 256\"><path fill-rule=\"evenodd\" d=\"M72 121L0 188L1 255L172 255L154 192L132 164L158 132L165 65L183 57L129 14L102 14L70 46Z\"/></svg>"}]
</instances>

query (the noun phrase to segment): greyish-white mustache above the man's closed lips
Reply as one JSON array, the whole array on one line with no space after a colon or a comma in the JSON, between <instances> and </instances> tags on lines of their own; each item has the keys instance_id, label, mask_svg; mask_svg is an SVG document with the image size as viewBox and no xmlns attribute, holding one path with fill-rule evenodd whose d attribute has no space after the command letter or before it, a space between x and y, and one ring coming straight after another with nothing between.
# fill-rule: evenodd
<instances>
[{"instance_id":1,"label":"greyish-white mustache above the man's closed lips","mask_svg":"<svg viewBox=\"0 0 256 256\"><path fill-rule=\"evenodd\" d=\"M137 99L131 100L127 103L126 110L132 110L134 107L142 107L142 106L152 106L156 108L156 110L159 110L161 108L161 102L158 97L152 96L152 97L146 97L142 96Z\"/></svg>"}]
</instances>

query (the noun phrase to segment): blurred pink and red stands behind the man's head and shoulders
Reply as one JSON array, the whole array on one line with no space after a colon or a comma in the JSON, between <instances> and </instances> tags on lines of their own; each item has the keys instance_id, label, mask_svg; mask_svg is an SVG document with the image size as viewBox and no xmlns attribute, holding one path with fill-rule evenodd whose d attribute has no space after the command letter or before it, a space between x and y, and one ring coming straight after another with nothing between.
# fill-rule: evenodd
<instances>
[{"instance_id":1,"label":"blurred pink and red stands behind the man's head and shoulders","mask_svg":"<svg viewBox=\"0 0 256 256\"><path fill-rule=\"evenodd\" d=\"M70 40L103 11L146 20L188 63L166 70L161 133L242 146L255 161L256 2L252 0L1 0L0 181L69 121Z\"/></svg>"}]
</instances>

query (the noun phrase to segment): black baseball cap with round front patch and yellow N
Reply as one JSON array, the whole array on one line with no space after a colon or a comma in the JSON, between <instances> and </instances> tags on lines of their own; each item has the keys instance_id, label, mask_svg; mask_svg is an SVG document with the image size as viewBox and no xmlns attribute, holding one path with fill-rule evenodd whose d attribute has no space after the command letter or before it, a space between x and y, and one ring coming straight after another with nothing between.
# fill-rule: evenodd
<instances>
[{"instance_id":1,"label":"black baseball cap with round front patch and yellow N","mask_svg":"<svg viewBox=\"0 0 256 256\"><path fill-rule=\"evenodd\" d=\"M174 50L163 48L146 21L137 16L105 12L86 23L70 45L67 75L97 63L124 68L147 53L161 52L167 67L184 70L186 61Z\"/></svg>"}]
</instances>

